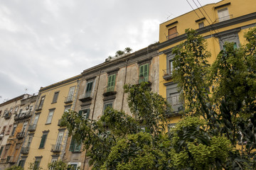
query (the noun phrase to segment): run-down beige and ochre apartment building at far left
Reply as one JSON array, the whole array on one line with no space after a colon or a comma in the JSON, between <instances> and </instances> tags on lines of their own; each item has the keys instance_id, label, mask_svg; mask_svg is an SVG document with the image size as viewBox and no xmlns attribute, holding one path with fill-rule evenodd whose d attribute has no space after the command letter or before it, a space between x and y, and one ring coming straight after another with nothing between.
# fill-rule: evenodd
<instances>
[{"instance_id":1,"label":"run-down beige and ochre apartment building at far left","mask_svg":"<svg viewBox=\"0 0 256 170\"><path fill-rule=\"evenodd\" d=\"M0 169L18 162L37 96L23 94L0 104Z\"/></svg>"}]
</instances>

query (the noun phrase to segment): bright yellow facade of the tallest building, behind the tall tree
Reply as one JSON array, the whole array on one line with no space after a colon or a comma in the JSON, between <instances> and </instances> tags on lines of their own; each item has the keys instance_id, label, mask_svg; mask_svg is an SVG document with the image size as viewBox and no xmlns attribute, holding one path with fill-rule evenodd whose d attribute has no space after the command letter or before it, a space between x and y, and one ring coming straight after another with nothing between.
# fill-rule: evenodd
<instances>
[{"instance_id":1,"label":"bright yellow facade of the tallest building, behind the tall tree","mask_svg":"<svg viewBox=\"0 0 256 170\"><path fill-rule=\"evenodd\" d=\"M256 8L254 0L223 0L216 4L208 4L195 11L160 24L159 28L159 94L170 98L171 86L171 48L186 40L185 30L197 30L206 39L213 63L223 42L235 42L240 47L245 42L244 33L256 26ZM222 41L221 41L222 40ZM177 123L181 115L171 114L170 123Z\"/></svg>"}]
</instances>

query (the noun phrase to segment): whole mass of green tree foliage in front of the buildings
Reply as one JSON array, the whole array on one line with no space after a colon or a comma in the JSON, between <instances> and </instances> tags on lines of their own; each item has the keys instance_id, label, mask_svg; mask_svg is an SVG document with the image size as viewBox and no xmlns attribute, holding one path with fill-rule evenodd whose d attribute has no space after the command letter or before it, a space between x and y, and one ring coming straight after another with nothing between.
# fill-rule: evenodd
<instances>
[{"instance_id":1,"label":"whole mass of green tree foliage in front of the buildings","mask_svg":"<svg viewBox=\"0 0 256 170\"><path fill-rule=\"evenodd\" d=\"M212 65L206 41L194 30L186 35L173 51L186 110L170 132L171 108L146 82L124 86L133 117L113 108L100 120L64 113L63 123L87 149L92 169L256 169L256 28L239 49L225 43Z\"/></svg>"}]
</instances>

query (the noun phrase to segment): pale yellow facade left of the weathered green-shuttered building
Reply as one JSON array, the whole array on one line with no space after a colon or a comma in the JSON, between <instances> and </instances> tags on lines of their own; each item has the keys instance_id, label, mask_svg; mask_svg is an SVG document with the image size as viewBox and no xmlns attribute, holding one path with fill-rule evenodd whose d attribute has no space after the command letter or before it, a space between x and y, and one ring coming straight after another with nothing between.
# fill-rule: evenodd
<instances>
[{"instance_id":1,"label":"pale yellow facade left of the weathered green-shuttered building","mask_svg":"<svg viewBox=\"0 0 256 170\"><path fill-rule=\"evenodd\" d=\"M65 109L75 106L79 81L80 76L72 77L40 89L36 112L28 130L30 132L23 145L29 151L28 154L21 154L20 161L25 163L24 169L28 169L29 163L35 161L47 169L48 163L63 159L68 130L60 127L58 120Z\"/></svg>"}]
</instances>

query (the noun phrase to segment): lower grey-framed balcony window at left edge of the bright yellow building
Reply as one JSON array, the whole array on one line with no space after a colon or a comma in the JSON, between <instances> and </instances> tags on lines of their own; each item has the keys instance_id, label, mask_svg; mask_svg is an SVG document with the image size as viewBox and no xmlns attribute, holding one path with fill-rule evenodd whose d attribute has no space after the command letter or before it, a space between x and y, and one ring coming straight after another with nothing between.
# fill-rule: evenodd
<instances>
[{"instance_id":1,"label":"lower grey-framed balcony window at left edge of the bright yellow building","mask_svg":"<svg viewBox=\"0 0 256 170\"><path fill-rule=\"evenodd\" d=\"M172 113L183 111L183 103L180 100L180 93L177 91L177 84L169 84L166 86L166 97L168 103L171 105Z\"/></svg>"}]
</instances>

